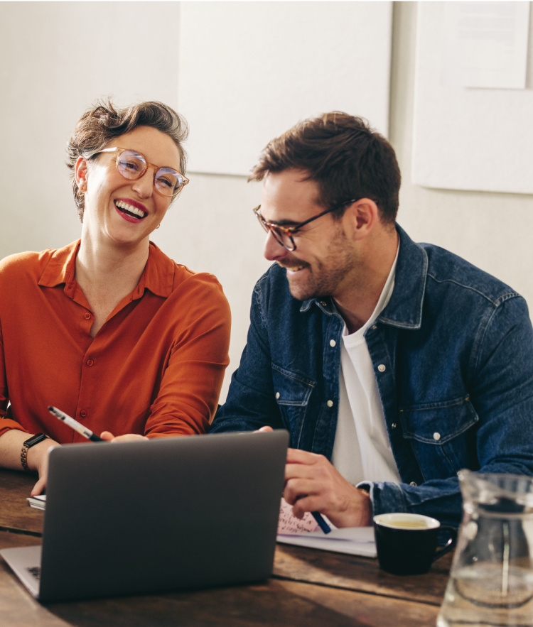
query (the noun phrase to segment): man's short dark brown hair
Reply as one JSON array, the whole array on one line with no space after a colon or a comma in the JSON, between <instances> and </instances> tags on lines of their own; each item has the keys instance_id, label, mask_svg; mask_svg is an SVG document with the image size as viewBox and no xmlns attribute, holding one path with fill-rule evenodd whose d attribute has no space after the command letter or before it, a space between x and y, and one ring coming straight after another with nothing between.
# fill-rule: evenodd
<instances>
[{"instance_id":1,"label":"man's short dark brown hair","mask_svg":"<svg viewBox=\"0 0 533 627\"><path fill-rule=\"evenodd\" d=\"M365 119L331 111L298 122L269 142L248 180L290 168L306 170L304 180L318 183L318 202L325 209L352 198L370 198L382 221L394 223L402 182L396 153Z\"/></svg>"}]
</instances>

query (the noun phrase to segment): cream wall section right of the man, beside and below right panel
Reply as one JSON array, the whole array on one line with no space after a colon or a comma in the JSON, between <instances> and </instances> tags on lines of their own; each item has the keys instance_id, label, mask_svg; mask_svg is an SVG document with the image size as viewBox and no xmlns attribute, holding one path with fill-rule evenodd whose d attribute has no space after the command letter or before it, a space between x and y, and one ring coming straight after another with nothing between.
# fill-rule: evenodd
<instances>
[{"instance_id":1,"label":"cream wall section right of the man, beside and below right panel","mask_svg":"<svg viewBox=\"0 0 533 627\"><path fill-rule=\"evenodd\" d=\"M443 246L509 283L533 310L533 196L436 190L411 183L417 4L394 3L389 139L402 168L398 222L416 241ZM505 124L506 116L507 111L499 111L494 123ZM435 122L453 124L453 119ZM494 158L499 158L497 146Z\"/></svg>"}]
</instances>

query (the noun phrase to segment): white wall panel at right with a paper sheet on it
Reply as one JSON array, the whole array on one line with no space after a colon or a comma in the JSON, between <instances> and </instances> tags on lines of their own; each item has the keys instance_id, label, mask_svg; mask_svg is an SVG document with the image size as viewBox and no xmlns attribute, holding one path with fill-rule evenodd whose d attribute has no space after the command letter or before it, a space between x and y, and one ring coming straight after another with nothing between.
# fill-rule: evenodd
<instances>
[{"instance_id":1,"label":"white wall panel at right with a paper sheet on it","mask_svg":"<svg viewBox=\"0 0 533 627\"><path fill-rule=\"evenodd\" d=\"M505 4L524 9L526 3ZM443 189L532 194L532 28L525 89L463 87L461 81L453 84L446 76L447 5L418 3L413 182Z\"/></svg>"}]
</instances>

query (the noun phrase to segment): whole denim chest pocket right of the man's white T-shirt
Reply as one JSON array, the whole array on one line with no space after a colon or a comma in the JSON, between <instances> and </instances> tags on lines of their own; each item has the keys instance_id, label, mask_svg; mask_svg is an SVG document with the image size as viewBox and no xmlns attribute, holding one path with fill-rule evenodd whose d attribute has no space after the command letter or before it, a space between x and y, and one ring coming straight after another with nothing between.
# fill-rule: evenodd
<instances>
[{"instance_id":1,"label":"whole denim chest pocket right of the man's white T-shirt","mask_svg":"<svg viewBox=\"0 0 533 627\"><path fill-rule=\"evenodd\" d=\"M461 468L478 469L479 417L469 396L400 408L399 418L424 481L454 476Z\"/></svg>"}]
</instances>

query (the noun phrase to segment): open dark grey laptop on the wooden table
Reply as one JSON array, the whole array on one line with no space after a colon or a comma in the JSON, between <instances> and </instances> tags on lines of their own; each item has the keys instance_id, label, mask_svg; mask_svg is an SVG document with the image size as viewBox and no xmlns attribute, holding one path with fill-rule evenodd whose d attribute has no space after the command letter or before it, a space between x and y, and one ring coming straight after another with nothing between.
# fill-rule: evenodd
<instances>
[{"instance_id":1,"label":"open dark grey laptop on the wooden table","mask_svg":"<svg viewBox=\"0 0 533 627\"><path fill-rule=\"evenodd\" d=\"M52 449L42 547L0 555L42 603L266 579L288 442L276 430Z\"/></svg>"}]
</instances>

